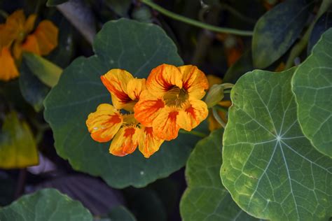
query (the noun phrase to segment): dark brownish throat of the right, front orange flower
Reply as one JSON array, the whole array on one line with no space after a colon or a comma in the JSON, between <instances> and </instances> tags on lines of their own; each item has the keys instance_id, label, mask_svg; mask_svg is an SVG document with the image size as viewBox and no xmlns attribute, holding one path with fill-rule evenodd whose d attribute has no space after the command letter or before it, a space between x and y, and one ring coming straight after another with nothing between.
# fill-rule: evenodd
<instances>
[{"instance_id":1,"label":"dark brownish throat of the right, front orange flower","mask_svg":"<svg viewBox=\"0 0 332 221\"><path fill-rule=\"evenodd\" d=\"M177 86L171 87L170 90L164 95L164 101L167 106L175 106L181 108L181 106L186 103L188 100L188 92L182 88L180 89Z\"/></svg>"}]
</instances>

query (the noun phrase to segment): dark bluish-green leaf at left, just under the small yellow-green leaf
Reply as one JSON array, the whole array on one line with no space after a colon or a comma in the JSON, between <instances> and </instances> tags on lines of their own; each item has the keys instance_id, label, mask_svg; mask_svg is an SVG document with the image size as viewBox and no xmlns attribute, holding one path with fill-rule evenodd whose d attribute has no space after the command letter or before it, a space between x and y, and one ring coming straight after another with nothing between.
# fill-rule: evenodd
<instances>
[{"instance_id":1,"label":"dark bluish-green leaf at left, just under the small yellow-green leaf","mask_svg":"<svg viewBox=\"0 0 332 221\"><path fill-rule=\"evenodd\" d=\"M27 66L25 59L20 65L20 91L25 101L34 107L34 110L39 112L43 108L43 101L50 91L50 87L46 86L32 73Z\"/></svg>"}]
</instances>

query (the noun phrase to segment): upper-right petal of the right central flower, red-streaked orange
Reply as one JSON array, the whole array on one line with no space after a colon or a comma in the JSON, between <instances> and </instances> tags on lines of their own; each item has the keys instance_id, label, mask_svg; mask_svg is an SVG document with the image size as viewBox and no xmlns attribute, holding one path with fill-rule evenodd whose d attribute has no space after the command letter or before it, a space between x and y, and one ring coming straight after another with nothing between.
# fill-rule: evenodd
<instances>
[{"instance_id":1,"label":"upper-right petal of the right central flower, red-streaked orange","mask_svg":"<svg viewBox=\"0 0 332 221\"><path fill-rule=\"evenodd\" d=\"M205 74L193 65L179 66L179 71L189 98L202 99L205 96L205 90L209 88Z\"/></svg>"}]
</instances>

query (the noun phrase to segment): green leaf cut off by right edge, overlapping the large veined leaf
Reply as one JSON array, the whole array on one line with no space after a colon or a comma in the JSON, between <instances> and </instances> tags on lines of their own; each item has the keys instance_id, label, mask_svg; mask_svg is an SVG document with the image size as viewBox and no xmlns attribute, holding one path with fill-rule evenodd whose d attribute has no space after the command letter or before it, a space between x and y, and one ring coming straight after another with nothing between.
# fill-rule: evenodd
<instances>
[{"instance_id":1,"label":"green leaf cut off by right edge, overlapping the large veined leaf","mask_svg":"<svg viewBox=\"0 0 332 221\"><path fill-rule=\"evenodd\" d=\"M319 152L332 157L332 29L296 70L292 89L303 134Z\"/></svg>"}]
</instances>

